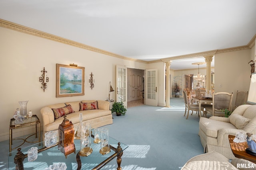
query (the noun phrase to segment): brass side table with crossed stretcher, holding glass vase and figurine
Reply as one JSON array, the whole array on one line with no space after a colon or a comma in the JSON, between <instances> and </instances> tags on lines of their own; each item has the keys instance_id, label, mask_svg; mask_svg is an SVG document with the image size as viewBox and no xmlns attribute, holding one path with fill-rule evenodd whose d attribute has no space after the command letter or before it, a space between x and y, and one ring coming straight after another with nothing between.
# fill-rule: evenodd
<instances>
[{"instance_id":1,"label":"brass side table with crossed stretcher, holding glass vase and figurine","mask_svg":"<svg viewBox=\"0 0 256 170\"><path fill-rule=\"evenodd\" d=\"M22 138L18 138L20 140L23 140L23 143L21 145L23 145L25 142L27 143L39 143L38 146L40 146L40 141L41 141L41 136L40 136L40 120L38 119L37 115L32 115L32 117L28 117L26 119L23 119L23 122L20 122L20 123L16 123L15 122L15 119L12 118L10 120L10 125L9 125L9 156L12 155L12 150L20 147L21 145L19 145L18 147L15 147L15 148L12 148L12 141L13 140L18 140L18 139L12 139L12 129L19 129L19 128L22 128L22 127L28 127L28 126L33 126L35 125L36 126L36 133L32 134L32 135L36 135L36 138L38 137L38 141L34 141L34 142L30 142L30 141L27 141L27 139L29 137L31 137L32 135L26 137L26 139L22 139ZM38 133L38 136L37 136L37 133Z\"/></svg>"}]
</instances>

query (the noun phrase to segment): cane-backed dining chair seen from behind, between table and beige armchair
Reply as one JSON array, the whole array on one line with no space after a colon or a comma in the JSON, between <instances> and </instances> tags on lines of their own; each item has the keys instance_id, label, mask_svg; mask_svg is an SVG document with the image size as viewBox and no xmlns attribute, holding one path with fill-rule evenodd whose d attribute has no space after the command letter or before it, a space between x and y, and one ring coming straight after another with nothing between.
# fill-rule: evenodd
<instances>
[{"instance_id":1,"label":"cane-backed dining chair seen from behind, between table and beige armchair","mask_svg":"<svg viewBox=\"0 0 256 170\"><path fill-rule=\"evenodd\" d=\"M232 111L233 93L218 92L212 95L212 106L204 106L205 112L213 116L225 117L225 109ZM205 113L205 114L206 114Z\"/></svg>"}]
</instances>

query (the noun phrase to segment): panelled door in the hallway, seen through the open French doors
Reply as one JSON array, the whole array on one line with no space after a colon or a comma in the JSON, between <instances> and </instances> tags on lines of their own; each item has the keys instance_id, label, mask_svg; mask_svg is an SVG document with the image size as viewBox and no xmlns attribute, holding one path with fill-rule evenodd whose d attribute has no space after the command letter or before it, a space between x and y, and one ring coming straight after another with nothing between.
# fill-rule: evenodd
<instances>
[{"instance_id":1,"label":"panelled door in the hallway, seen through the open French doors","mask_svg":"<svg viewBox=\"0 0 256 170\"><path fill-rule=\"evenodd\" d=\"M130 78L130 101L140 99L141 89L141 74L138 72L131 72Z\"/></svg>"}]
</instances>

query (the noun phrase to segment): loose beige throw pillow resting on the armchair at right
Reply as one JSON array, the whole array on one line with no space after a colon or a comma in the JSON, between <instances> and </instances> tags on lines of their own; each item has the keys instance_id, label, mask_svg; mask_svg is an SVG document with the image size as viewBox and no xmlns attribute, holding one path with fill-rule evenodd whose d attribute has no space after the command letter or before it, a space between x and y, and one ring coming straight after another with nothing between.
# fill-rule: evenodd
<instances>
[{"instance_id":1,"label":"loose beige throw pillow resting on the armchair at right","mask_svg":"<svg viewBox=\"0 0 256 170\"><path fill-rule=\"evenodd\" d=\"M248 119L242 115L231 114L229 117L229 121L237 129L244 129L244 127L250 122L250 119Z\"/></svg>"}]
</instances>

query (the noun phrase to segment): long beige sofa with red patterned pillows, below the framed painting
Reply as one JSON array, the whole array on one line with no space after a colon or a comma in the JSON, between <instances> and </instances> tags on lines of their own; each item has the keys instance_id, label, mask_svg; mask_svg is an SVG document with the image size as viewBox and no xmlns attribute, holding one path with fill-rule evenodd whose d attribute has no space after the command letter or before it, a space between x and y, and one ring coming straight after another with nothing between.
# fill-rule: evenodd
<instances>
[{"instance_id":1,"label":"long beige sofa with red patterned pillows, below the framed painting","mask_svg":"<svg viewBox=\"0 0 256 170\"><path fill-rule=\"evenodd\" d=\"M95 108L83 108L86 110L80 111L80 105L83 104L96 104ZM70 107L70 106L72 107ZM86 105L87 106L87 105ZM109 125L113 123L112 113L109 109L109 102L103 100L83 100L77 102L66 102L60 104L52 104L41 109L41 115L43 119L43 134L48 131L54 131L59 128L59 125L62 123L64 117L58 117L58 112L56 113L56 109L64 108L66 111L68 109L73 109L73 113L68 113L66 118L74 124L74 126L78 126L80 123L79 114L83 113L83 122L90 122L92 128L101 127L104 125ZM62 110L64 110L62 109ZM58 109L60 110L60 109ZM55 112L54 112L55 111ZM72 112L72 111L71 111ZM59 115L60 116L60 115ZM44 141L44 135L43 141Z\"/></svg>"}]
</instances>

